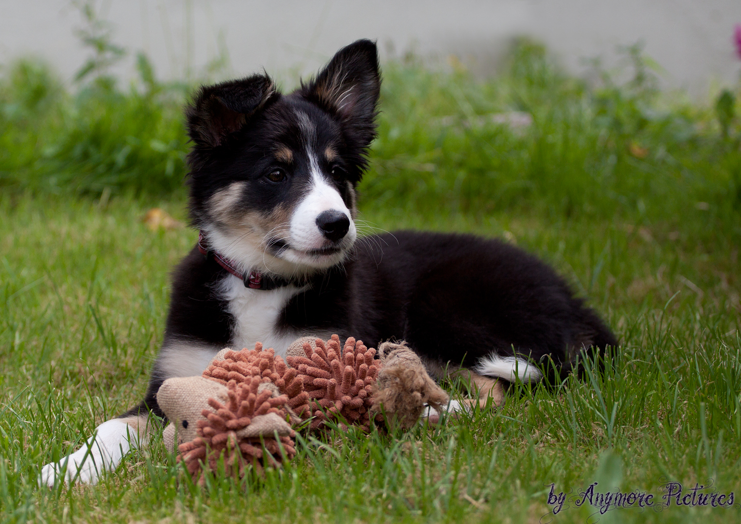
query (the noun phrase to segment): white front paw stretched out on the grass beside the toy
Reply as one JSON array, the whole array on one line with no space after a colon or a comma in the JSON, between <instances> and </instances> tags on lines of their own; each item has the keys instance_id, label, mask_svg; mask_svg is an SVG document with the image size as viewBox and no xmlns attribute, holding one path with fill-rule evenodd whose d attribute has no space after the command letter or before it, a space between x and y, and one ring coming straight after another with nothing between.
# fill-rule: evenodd
<instances>
[{"instance_id":1,"label":"white front paw stretched out on the grass beside the toy","mask_svg":"<svg viewBox=\"0 0 741 524\"><path fill-rule=\"evenodd\" d=\"M59 462L44 465L39 485L53 487L58 482L72 481L96 484L104 471L116 469L122 457L138 445L136 431L126 422L121 419L103 422L82 448Z\"/></svg>"}]
</instances>

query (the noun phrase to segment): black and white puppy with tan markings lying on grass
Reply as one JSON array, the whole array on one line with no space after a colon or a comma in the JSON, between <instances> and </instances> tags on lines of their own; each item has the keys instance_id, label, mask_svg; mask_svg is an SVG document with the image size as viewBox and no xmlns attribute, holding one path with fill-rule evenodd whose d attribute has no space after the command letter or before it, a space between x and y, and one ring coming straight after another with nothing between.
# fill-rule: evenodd
<instances>
[{"instance_id":1,"label":"black and white puppy with tan markings lying on grass","mask_svg":"<svg viewBox=\"0 0 741 524\"><path fill-rule=\"evenodd\" d=\"M339 50L283 95L268 76L203 87L187 108L190 214L199 244L176 269L162 349L139 407L99 425L40 481L96 482L143 444L155 394L225 346L284 354L299 336L404 339L434 377L463 371L483 399L501 380L568 371L617 340L544 263L496 240L438 233L358 239L355 188L375 136L376 44ZM161 427L161 426L159 426Z\"/></svg>"}]
</instances>

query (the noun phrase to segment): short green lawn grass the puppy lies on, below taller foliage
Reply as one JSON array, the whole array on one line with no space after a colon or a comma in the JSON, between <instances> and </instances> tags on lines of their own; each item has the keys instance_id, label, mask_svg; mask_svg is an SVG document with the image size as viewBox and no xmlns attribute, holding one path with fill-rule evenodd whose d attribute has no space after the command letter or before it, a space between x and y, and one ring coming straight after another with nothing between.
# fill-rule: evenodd
<instances>
[{"instance_id":1,"label":"short green lawn grass the puppy lies on, below taller foliage","mask_svg":"<svg viewBox=\"0 0 741 524\"><path fill-rule=\"evenodd\" d=\"M183 204L163 205L182 219ZM720 491L741 492L738 251L722 235L695 239L701 215L671 240L660 225L538 213L435 219L371 202L362 219L379 228L505 235L544 256L614 326L623 343L614 366L564 388L523 390L499 411L436 431L301 443L285 471L244 486L193 488L155 442L95 487L39 490L40 465L144 393L168 272L196 238L187 229L150 231L146 209L127 197L103 206L0 198L6 521L534 522L548 511L551 482L568 490L617 478L624 490L658 496L663 478L694 485L711 477ZM727 522L737 511L672 506L608 517ZM572 507L556 522L586 516Z\"/></svg>"}]
</instances>

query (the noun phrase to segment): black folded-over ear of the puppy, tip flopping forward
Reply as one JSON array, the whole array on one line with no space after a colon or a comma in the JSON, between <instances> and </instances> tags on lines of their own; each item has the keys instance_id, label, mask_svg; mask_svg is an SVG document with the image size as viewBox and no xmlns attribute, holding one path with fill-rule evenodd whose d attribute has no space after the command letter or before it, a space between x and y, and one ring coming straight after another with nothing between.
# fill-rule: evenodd
<instances>
[{"instance_id":1,"label":"black folded-over ear of the puppy, tip flopping forward","mask_svg":"<svg viewBox=\"0 0 741 524\"><path fill-rule=\"evenodd\" d=\"M185 111L188 134L202 147L222 145L230 133L242 129L250 116L278 94L267 75L201 87Z\"/></svg>"}]
</instances>

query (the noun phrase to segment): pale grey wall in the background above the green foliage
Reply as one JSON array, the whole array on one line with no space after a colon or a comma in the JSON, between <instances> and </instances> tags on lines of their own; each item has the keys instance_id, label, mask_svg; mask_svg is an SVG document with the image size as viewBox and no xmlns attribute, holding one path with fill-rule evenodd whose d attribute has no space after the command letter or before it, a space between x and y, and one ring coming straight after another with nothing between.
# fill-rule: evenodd
<instances>
[{"instance_id":1,"label":"pale grey wall in the background above the green foliage","mask_svg":"<svg viewBox=\"0 0 741 524\"><path fill-rule=\"evenodd\" d=\"M413 47L423 56L461 56L488 73L509 39L542 40L571 70L617 45L645 42L665 68L665 84L706 96L739 79L731 42L740 0L109 0L114 42L147 51L160 76L182 78L217 55L219 34L232 73L309 73L354 39L377 39L388 55ZM73 35L81 17L69 0L0 0L0 63L44 56L66 79L87 51ZM133 75L133 60L119 66Z\"/></svg>"}]
</instances>

